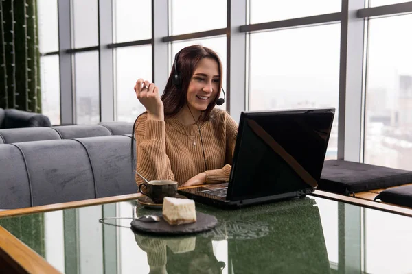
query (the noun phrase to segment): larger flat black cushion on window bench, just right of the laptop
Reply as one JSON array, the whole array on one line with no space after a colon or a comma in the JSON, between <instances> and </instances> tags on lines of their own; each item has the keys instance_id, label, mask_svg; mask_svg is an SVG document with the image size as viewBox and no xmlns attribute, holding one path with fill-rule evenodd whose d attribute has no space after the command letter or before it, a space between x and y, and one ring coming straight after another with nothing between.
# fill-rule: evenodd
<instances>
[{"instance_id":1,"label":"larger flat black cushion on window bench, just right of the laptop","mask_svg":"<svg viewBox=\"0 0 412 274\"><path fill-rule=\"evenodd\" d=\"M412 183L412 171L344 160L323 164L318 189L344 195Z\"/></svg>"}]
</instances>

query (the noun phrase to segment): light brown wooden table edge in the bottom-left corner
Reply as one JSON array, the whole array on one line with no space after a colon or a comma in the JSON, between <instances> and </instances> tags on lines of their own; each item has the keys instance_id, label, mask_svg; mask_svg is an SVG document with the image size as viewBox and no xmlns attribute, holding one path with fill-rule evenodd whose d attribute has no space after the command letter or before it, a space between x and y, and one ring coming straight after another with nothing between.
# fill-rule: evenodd
<instances>
[{"instance_id":1,"label":"light brown wooden table edge in the bottom-left corner","mask_svg":"<svg viewBox=\"0 0 412 274\"><path fill-rule=\"evenodd\" d=\"M36 251L0 226L0 257L16 272L60 273Z\"/></svg>"}]
</instances>

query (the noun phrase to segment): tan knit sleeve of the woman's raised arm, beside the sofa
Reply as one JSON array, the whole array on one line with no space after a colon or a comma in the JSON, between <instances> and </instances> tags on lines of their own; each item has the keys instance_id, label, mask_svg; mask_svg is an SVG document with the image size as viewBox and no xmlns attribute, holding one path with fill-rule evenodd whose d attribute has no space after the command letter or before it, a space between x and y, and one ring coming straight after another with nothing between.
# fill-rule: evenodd
<instances>
[{"instance_id":1,"label":"tan knit sleeve of the woman's raised arm, beside the sofa","mask_svg":"<svg viewBox=\"0 0 412 274\"><path fill-rule=\"evenodd\" d=\"M174 180L170 159L166 154L165 121L147 120L147 114L139 116L135 128L136 170L150 180ZM135 175L137 184L143 179Z\"/></svg>"}]
</instances>

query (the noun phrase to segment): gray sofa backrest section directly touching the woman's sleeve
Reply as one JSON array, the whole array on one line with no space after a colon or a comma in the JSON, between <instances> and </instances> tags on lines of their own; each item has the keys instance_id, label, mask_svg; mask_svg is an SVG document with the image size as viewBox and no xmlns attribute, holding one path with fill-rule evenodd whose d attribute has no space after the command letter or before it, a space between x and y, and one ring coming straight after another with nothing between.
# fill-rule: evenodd
<instances>
[{"instance_id":1,"label":"gray sofa backrest section directly touching the woman's sleeve","mask_svg":"<svg viewBox=\"0 0 412 274\"><path fill-rule=\"evenodd\" d=\"M96 197L137 193L128 136L75 139L87 149L95 175Z\"/></svg>"}]
</instances>

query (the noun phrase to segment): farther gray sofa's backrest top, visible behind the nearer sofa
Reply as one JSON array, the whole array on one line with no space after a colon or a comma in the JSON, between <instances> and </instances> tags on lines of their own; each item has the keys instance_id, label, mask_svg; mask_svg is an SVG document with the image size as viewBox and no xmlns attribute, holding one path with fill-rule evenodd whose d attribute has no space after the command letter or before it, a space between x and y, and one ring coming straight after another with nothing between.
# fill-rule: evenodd
<instances>
[{"instance_id":1,"label":"farther gray sofa's backrest top, visible behind the nearer sofa","mask_svg":"<svg viewBox=\"0 0 412 274\"><path fill-rule=\"evenodd\" d=\"M133 131L133 123L106 122L98 125L58 125L54 127L27 127L0 129L0 144L61 140L93 136L124 135Z\"/></svg>"}]
</instances>

